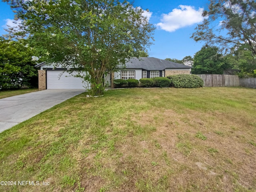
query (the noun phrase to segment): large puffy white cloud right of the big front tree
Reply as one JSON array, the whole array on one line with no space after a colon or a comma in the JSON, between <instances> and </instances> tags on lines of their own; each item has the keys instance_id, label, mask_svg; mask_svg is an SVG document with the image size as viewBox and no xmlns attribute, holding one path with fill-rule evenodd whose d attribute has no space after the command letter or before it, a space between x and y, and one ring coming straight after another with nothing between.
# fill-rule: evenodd
<instances>
[{"instance_id":1,"label":"large puffy white cloud right of the big front tree","mask_svg":"<svg viewBox=\"0 0 256 192\"><path fill-rule=\"evenodd\" d=\"M202 22L202 12L204 8L196 10L192 6L179 5L178 9L173 9L168 14L162 14L161 22L156 24L162 30L174 32L179 28L190 26Z\"/></svg>"}]
</instances>

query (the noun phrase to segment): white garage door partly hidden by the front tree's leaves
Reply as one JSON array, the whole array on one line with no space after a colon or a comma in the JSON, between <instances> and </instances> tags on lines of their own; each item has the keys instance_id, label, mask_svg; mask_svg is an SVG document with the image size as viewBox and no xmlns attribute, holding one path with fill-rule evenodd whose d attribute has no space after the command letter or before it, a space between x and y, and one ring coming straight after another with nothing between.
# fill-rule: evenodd
<instances>
[{"instance_id":1,"label":"white garage door partly hidden by the front tree's leaves","mask_svg":"<svg viewBox=\"0 0 256 192\"><path fill-rule=\"evenodd\" d=\"M58 70L47 71L47 89L85 89L89 88L87 83L82 83L82 79L73 77L68 72ZM63 74L62 74L63 73ZM76 72L73 72L77 74ZM62 74L60 76L60 74Z\"/></svg>"}]
</instances>

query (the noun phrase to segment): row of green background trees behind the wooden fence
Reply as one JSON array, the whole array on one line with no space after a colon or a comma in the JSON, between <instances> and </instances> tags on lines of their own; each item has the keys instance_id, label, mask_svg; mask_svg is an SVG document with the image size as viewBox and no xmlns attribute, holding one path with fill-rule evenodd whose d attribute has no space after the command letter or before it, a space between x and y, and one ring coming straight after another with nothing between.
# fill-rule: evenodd
<instances>
[{"instance_id":1,"label":"row of green background trees behind the wooden fence","mask_svg":"<svg viewBox=\"0 0 256 192\"><path fill-rule=\"evenodd\" d=\"M225 70L235 69L235 74L240 77L256 77L256 59L246 44L233 48L225 55L218 47L206 45L196 52L194 58L186 56L182 60L165 60L184 65L192 64L192 74L223 74Z\"/></svg>"}]
</instances>

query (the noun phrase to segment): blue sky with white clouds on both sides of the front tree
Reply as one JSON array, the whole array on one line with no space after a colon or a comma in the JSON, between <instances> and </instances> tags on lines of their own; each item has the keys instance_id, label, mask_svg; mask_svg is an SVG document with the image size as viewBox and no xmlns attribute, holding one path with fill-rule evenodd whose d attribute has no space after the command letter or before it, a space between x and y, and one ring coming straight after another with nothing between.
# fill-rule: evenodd
<instances>
[{"instance_id":1,"label":"blue sky with white clouds on both sides of the front tree","mask_svg":"<svg viewBox=\"0 0 256 192\"><path fill-rule=\"evenodd\" d=\"M194 56L203 44L190 38L196 25L202 22L201 13L208 8L209 0L134 0L134 6L145 11L149 22L156 26L154 44L148 50L150 57L181 60ZM0 2L0 35L6 24L12 25L14 13L10 6Z\"/></svg>"}]
</instances>

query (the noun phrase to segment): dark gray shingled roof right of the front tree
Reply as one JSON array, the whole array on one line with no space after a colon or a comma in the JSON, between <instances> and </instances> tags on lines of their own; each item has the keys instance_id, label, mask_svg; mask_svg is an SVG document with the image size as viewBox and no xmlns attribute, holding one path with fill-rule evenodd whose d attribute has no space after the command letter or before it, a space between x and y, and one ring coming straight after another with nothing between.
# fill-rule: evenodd
<instances>
[{"instance_id":1,"label":"dark gray shingled roof right of the front tree","mask_svg":"<svg viewBox=\"0 0 256 192\"><path fill-rule=\"evenodd\" d=\"M166 68L184 68L189 69L192 68L190 66L186 66L179 63L174 63L171 61L166 61L154 57L140 57L132 58L128 62L126 62L127 69L145 69L145 70L164 70Z\"/></svg>"}]
</instances>

